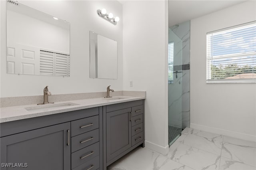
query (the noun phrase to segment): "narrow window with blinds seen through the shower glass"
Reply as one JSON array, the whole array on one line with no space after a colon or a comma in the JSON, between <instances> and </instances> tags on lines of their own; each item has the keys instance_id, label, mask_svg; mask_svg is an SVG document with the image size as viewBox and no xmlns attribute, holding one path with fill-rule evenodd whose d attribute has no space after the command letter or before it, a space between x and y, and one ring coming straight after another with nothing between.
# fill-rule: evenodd
<instances>
[{"instance_id":1,"label":"narrow window with blinds seen through the shower glass","mask_svg":"<svg viewBox=\"0 0 256 170\"><path fill-rule=\"evenodd\" d=\"M168 43L168 83L173 83L174 42Z\"/></svg>"}]
</instances>

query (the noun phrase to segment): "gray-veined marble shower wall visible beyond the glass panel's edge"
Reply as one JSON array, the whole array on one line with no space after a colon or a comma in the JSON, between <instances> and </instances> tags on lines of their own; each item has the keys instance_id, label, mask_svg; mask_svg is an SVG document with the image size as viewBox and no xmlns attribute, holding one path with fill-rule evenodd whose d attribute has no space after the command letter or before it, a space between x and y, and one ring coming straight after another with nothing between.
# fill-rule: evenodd
<instances>
[{"instance_id":1,"label":"gray-veined marble shower wall visible beyond the glass panel's edge","mask_svg":"<svg viewBox=\"0 0 256 170\"><path fill-rule=\"evenodd\" d=\"M182 40L182 128L190 127L190 21L170 27ZM176 70L174 70L176 71Z\"/></svg>"}]
</instances>

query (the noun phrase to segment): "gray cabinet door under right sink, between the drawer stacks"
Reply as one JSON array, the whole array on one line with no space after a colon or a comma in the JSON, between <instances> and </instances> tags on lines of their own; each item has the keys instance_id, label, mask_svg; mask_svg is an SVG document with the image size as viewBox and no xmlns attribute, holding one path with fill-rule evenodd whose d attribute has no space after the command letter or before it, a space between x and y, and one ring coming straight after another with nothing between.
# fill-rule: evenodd
<instances>
[{"instance_id":1,"label":"gray cabinet door under right sink, between the drawer stacks","mask_svg":"<svg viewBox=\"0 0 256 170\"><path fill-rule=\"evenodd\" d=\"M106 113L107 162L132 146L131 108Z\"/></svg>"}]
</instances>

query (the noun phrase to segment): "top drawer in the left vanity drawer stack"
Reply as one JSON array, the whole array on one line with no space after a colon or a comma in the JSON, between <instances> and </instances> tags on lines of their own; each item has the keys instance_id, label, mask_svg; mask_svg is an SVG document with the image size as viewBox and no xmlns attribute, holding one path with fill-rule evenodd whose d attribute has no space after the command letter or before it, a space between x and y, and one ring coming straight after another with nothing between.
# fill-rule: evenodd
<instances>
[{"instance_id":1,"label":"top drawer in the left vanity drawer stack","mask_svg":"<svg viewBox=\"0 0 256 170\"><path fill-rule=\"evenodd\" d=\"M87 117L71 122L71 137L99 128L99 116Z\"/></svg>"}]
</instances>

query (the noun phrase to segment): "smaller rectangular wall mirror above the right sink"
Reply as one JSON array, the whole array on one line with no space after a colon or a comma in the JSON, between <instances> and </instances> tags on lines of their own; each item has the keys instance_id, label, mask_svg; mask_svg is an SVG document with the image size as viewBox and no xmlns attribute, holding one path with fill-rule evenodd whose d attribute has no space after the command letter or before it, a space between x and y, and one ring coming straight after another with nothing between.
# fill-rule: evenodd
<instances>
[{"instance_id":1,"label":"smaller rectangular wall mirror above the right sink","mask_svg":"<svg viewBox=\"0 0 256 170\"><path fill-rule=\"evenodd\" d=\"M117 79L117 42L91 31L90 78Z\"/></svg>"}]
</instances>

